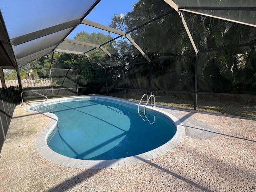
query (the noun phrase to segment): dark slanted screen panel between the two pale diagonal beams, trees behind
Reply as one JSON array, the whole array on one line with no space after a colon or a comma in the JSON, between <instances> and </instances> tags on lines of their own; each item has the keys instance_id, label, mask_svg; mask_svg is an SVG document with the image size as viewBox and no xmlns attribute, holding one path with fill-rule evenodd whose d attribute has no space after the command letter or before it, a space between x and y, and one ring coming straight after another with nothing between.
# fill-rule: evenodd
<instances>
[{"instance_id":1,"label":"dark slanted screen panel between the two pale diagonal beams, trees behind","mask_svg":"<svg viewBox=\"0 0 256 192\"><path fill-rule=\"evenodd\" d=\"M152 60L194 53L177 12L138 28L130 36Z\"/></svg>"}]
</instances>

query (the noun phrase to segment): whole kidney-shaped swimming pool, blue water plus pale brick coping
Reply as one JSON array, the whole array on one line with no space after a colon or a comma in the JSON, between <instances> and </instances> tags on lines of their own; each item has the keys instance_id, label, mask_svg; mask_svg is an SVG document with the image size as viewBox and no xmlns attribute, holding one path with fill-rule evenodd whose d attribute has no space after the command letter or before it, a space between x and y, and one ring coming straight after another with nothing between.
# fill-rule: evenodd
<instances>
[{"instance_id":1,"label":"whole kidney-shaped swimming pool, blue water plus pale brick coping","mask_svg":"<svg viewBox=\"0 0 256 192\"><path fill-rule=\"evenodd\" d=\"M128 105L128 108L123 108L124 105ZM40 111L46 110L48 112L44 114L52 116L50 124L38 135L36 150L42 157L63 166L113 168L164 154L182 140L184 127L178 119L152 107L146 109L152 114L143 118L138 111L136 114L137 105L127 100L98 95L36 104L30 109L40 107ZM94 110L96 108L101 112ZM63 123L62 118L68 121ZM78 119L82 121L78 122ZM72 127L78 129L72 132ZM168 128L162 130L164 127Z\"/></svg>"}]
</instances>

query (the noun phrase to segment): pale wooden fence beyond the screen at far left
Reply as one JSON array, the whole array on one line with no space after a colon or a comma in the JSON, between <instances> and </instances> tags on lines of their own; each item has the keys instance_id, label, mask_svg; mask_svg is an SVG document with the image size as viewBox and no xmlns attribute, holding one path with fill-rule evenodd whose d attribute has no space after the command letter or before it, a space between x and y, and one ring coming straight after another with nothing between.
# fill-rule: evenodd
<instances>
[{"instance_id":1,"label":"pale wooden fence beyond the screen at far left","mask_svg":"<svg viewBox=\"0 0 256 192\"><path fill-rule=\"evenodd\" d=\"M6 87L19 85L18 80L8 80L5 81ZM50 87L52 86L50 80L22 80L22 88L26 87ZM0 81L0 88L2 87L2 82Z\"/></svg>"}]
</instances>

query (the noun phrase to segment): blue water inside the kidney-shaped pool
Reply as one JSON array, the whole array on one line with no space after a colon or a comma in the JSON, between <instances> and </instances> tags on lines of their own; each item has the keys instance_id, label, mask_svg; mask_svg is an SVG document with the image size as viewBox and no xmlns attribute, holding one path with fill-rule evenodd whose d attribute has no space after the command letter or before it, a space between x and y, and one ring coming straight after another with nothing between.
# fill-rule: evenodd
<instances>
[{"instance_id":1,"label":"blue water inside the kidney-shaped pool","mask_svg":"<svg viewBox=\"0 0 256 192\"><path fill-rule=\"evenodd\" d=\"M168 142L176 127L164 116L104 99L74 100L42 106L58 116L58 129L48 139L55 152L84 160L109 160L142 154ZM143 109L142 109L143 111ZM149 113L148 113L149 112Z\"/></svg>"}]
</instances>

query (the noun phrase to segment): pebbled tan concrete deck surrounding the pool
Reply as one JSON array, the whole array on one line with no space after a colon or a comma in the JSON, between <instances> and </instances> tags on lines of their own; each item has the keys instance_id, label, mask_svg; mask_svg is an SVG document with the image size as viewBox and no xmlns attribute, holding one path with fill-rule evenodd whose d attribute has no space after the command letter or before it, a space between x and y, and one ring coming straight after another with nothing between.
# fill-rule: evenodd
<instances>
[{"instance_id":1,"label":"pebbled tan concrete deck surrounding the pool","mask_svg":"<svg viewBox=\"0 0 256 192\"><path fill-rule=\"evenodd\" d=\"M2 148L1 191L256 190L256 120L161 107L185 127L178 146L138 164L83 170L54 164L36 152L35 140L50 117L25 107L16 106Z\"/></svg>"}]
</instances>

